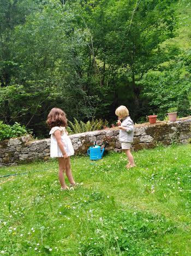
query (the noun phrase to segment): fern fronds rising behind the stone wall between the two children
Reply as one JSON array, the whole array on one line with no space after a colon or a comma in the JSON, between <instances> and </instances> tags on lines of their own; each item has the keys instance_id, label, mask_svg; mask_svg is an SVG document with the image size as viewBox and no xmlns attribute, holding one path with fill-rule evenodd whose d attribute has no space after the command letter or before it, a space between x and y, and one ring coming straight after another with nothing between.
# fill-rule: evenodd
<instances>
[{"instance_id":1,"label":"fern fronds rising behind the stone wall between the two children","mask_svg":"<svg viewBox=\"0 0 191 256\"><path fill-rule=\"evenodd\" d=\"M82 121L79 122L74 118L74 123L70 121L68 121L68 123L72 133L90 132L92 130L103 129L108 126L108 121L103 121L101 119L91 120L84 123Z\"/></svg>"}]
</instances>

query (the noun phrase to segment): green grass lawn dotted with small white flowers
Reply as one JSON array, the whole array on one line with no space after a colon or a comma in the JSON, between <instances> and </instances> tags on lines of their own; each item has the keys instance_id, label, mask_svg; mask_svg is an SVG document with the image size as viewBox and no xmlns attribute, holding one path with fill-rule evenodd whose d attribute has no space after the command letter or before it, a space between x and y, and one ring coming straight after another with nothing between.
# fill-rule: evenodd
<instances>
[{"instance_id":1,"label":"green grass lawn dotted with small white flowers","mask_svg":"<svg viewBox=\"0 0 191 256\"><path fill-rule=\"evenodd\" d=\"M124 153L71 158L74 191L56 161L1 168L28 174L0 179L0 254L191 255L191 145L134 157L130 170Z\"/></svg>"}]
</instances>

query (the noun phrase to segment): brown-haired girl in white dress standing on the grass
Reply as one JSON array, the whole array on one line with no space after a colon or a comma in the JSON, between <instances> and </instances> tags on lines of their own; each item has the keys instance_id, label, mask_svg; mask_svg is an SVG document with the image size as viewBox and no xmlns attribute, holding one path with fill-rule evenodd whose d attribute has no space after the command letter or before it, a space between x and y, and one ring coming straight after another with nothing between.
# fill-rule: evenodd
<instances>
[{"instance_id":1,"label":"brown-haired girl in white dress standing on the grass","mask_svg":"<svg viewBox=\"0 0 191 256\"><path fill-rule=\"evenodd\" d=\"M47 125L51 128L50 157L58 158L58 178L62 190L69 187L65 184L64 171L68 177L70 186L75 186L75 181L70 169L70 156L74 155L73 145L67 135L65 127L67 126L67 118L61 109L54 107L51 109L47 120Z\"/></svg>"}]
</instances>

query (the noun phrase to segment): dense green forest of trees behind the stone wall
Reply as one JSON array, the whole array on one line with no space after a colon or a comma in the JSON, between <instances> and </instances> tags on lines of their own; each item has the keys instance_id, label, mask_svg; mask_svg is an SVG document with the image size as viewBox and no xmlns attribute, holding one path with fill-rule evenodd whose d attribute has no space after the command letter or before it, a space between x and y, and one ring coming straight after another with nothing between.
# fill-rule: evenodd
<instances>
[{"instance_id":1,"label":"dense green forest of trees behind the stone wall","mask_svg":"<svg viewBox=\"0 0 191 256\"><path fill-rule=\"evenodd\" d=\"M70 121L135 122L170 107L190 112L191 3L186 0L1 0L0 120L48 136Z\"/></svg>"}]
</instances>

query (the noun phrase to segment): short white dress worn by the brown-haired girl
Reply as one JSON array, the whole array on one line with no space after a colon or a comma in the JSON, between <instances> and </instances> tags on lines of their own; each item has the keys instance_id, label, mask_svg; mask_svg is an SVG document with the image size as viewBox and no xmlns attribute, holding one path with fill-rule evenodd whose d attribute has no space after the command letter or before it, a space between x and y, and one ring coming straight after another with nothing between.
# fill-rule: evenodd
<instances>
[{"instance_id":1,"label":"short white dress worn by the brown-haired girl","mask_svg":"<svg viewBox=\"0 0 191 256\"><path fill-rule=\"evenodd\" d=\"M50 130L51 137L50 137L50 157L63 157L61 150L59 149L59 146L56 141L55 135L53 133L56 130L61 130L61 140L64 145L65 152L68 156L74 155L74 149L73 145L71 144L71 140L69 136L65 132L65 127L62 126L55 126Z\"/></svg>"}]
</instances>

